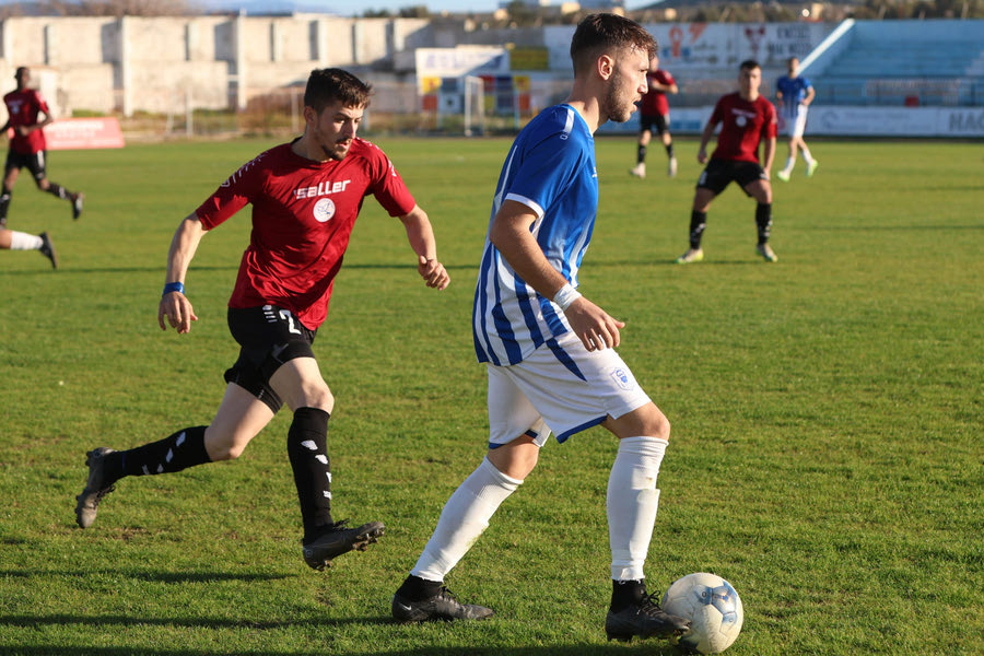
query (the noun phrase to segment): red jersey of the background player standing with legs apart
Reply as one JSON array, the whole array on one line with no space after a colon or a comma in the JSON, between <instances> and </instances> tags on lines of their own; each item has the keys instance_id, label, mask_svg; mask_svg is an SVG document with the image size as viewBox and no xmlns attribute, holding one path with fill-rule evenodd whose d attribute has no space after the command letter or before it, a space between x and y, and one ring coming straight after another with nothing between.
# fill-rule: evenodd
<instances>
[{"instance_id":1,"label":"red jersey of the background player standing with legs apart","mask_svg":"<svg viewBox=\"0 0 984 656\"><path fill-rule=\"evenodd\" d=\"M759 163L759 142L775 137L775 107L759 96L745 101L738 92L722 96L711 115L712 124L723 124L712 160Z\"/></svg>"}]
</instances>

